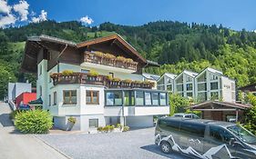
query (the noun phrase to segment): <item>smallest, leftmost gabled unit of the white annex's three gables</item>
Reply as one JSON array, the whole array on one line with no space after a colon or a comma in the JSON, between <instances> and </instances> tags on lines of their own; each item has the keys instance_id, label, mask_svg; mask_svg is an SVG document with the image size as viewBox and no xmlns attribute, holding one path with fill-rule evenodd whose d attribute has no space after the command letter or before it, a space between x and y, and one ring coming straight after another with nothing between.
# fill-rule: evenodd
<instances>
[{"instance_id":1,"label":"smallest, leftmost gabled unit of the white annex's three gables","mask_svg":"<svg viewBox=\"0 0 256 159\"><path fill-rule=\"evenodd\" d=\"M177 75L165 73L164 75L161 75L158 80L158 89L169 91L171 93L174 92L174 79Z\"/></svg>"}]
</instances>

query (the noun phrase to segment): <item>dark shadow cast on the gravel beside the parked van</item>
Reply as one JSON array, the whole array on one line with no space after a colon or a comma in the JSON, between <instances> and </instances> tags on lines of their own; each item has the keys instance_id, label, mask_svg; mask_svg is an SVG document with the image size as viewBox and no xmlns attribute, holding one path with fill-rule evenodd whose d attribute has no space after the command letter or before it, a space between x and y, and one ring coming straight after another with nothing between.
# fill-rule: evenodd
<instances>
[{"instance_id":1,"label":"dark shadow cast on the gravel beside the parked van","mask_svg":"<svg viewBox=\"0 0 256 159\"><path fill-rule=\"evenodd\" d=\"M170 154L164 154L161 152L160 148L158 145L156 144L149 144L149 145L145 145L140 147L141 149L147 150L151 153L155 153L155 154L159 154L168 158L172 158L172 159L185 159L185 158L189 158L188 156L179 154L177 152L172 152Z\"/></svg>"}]
</instances>

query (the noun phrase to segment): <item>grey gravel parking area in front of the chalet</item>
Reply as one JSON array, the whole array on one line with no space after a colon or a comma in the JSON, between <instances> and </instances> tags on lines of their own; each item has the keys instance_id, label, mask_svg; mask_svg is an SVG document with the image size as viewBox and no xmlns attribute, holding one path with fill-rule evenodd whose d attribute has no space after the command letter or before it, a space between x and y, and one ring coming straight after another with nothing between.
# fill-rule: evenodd
<instances>
[{"instance_id":1,"label":"grey gravel parking area in front of the chalet","mask_svg":"<svg viewBox=\"0 0 256 159\"><path fill-rule=\"evenodd\" d=\"M154 128L108 134L39 134L36 137L72 158L188 158L163 154L154 144Z\"/></svg>"}]
</instances>

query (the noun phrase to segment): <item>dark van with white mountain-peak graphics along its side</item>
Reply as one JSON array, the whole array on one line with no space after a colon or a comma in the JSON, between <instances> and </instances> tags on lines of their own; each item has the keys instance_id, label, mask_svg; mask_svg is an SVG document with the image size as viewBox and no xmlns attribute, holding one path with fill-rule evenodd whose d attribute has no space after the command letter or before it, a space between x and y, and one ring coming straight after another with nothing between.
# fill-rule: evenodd
<instances>
[{"instance_id":1,"label":"dark van with white mountain-peak graphics along its side","mask_svg":"<svg viewBox=\"0 0 256 159\"><path fill-rule=\"evenodd\" d=\"M156 125L155 143L166 154L177 151L203 159L256 159L256 136L228 122L162 117Z\"/></svg>"}]
</instances>

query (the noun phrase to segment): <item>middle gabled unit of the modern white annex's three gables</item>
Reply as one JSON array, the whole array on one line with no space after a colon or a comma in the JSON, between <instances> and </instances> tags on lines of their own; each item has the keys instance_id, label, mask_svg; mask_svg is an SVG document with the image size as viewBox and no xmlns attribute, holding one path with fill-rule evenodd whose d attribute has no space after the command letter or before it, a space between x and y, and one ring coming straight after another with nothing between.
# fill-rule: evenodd
<instances>
[{"instance_id":1,"label":"middle gabled unit of the modern white annex's three gables","mask_svg":"<svg viewBox=\"0 0 256 159\"><path fill-rule=\"evenodd\" d=\"M174 79L174 92L184 97L195 98L195 77L198 73L184 70Z\"/></svg>"}]
</instances>

